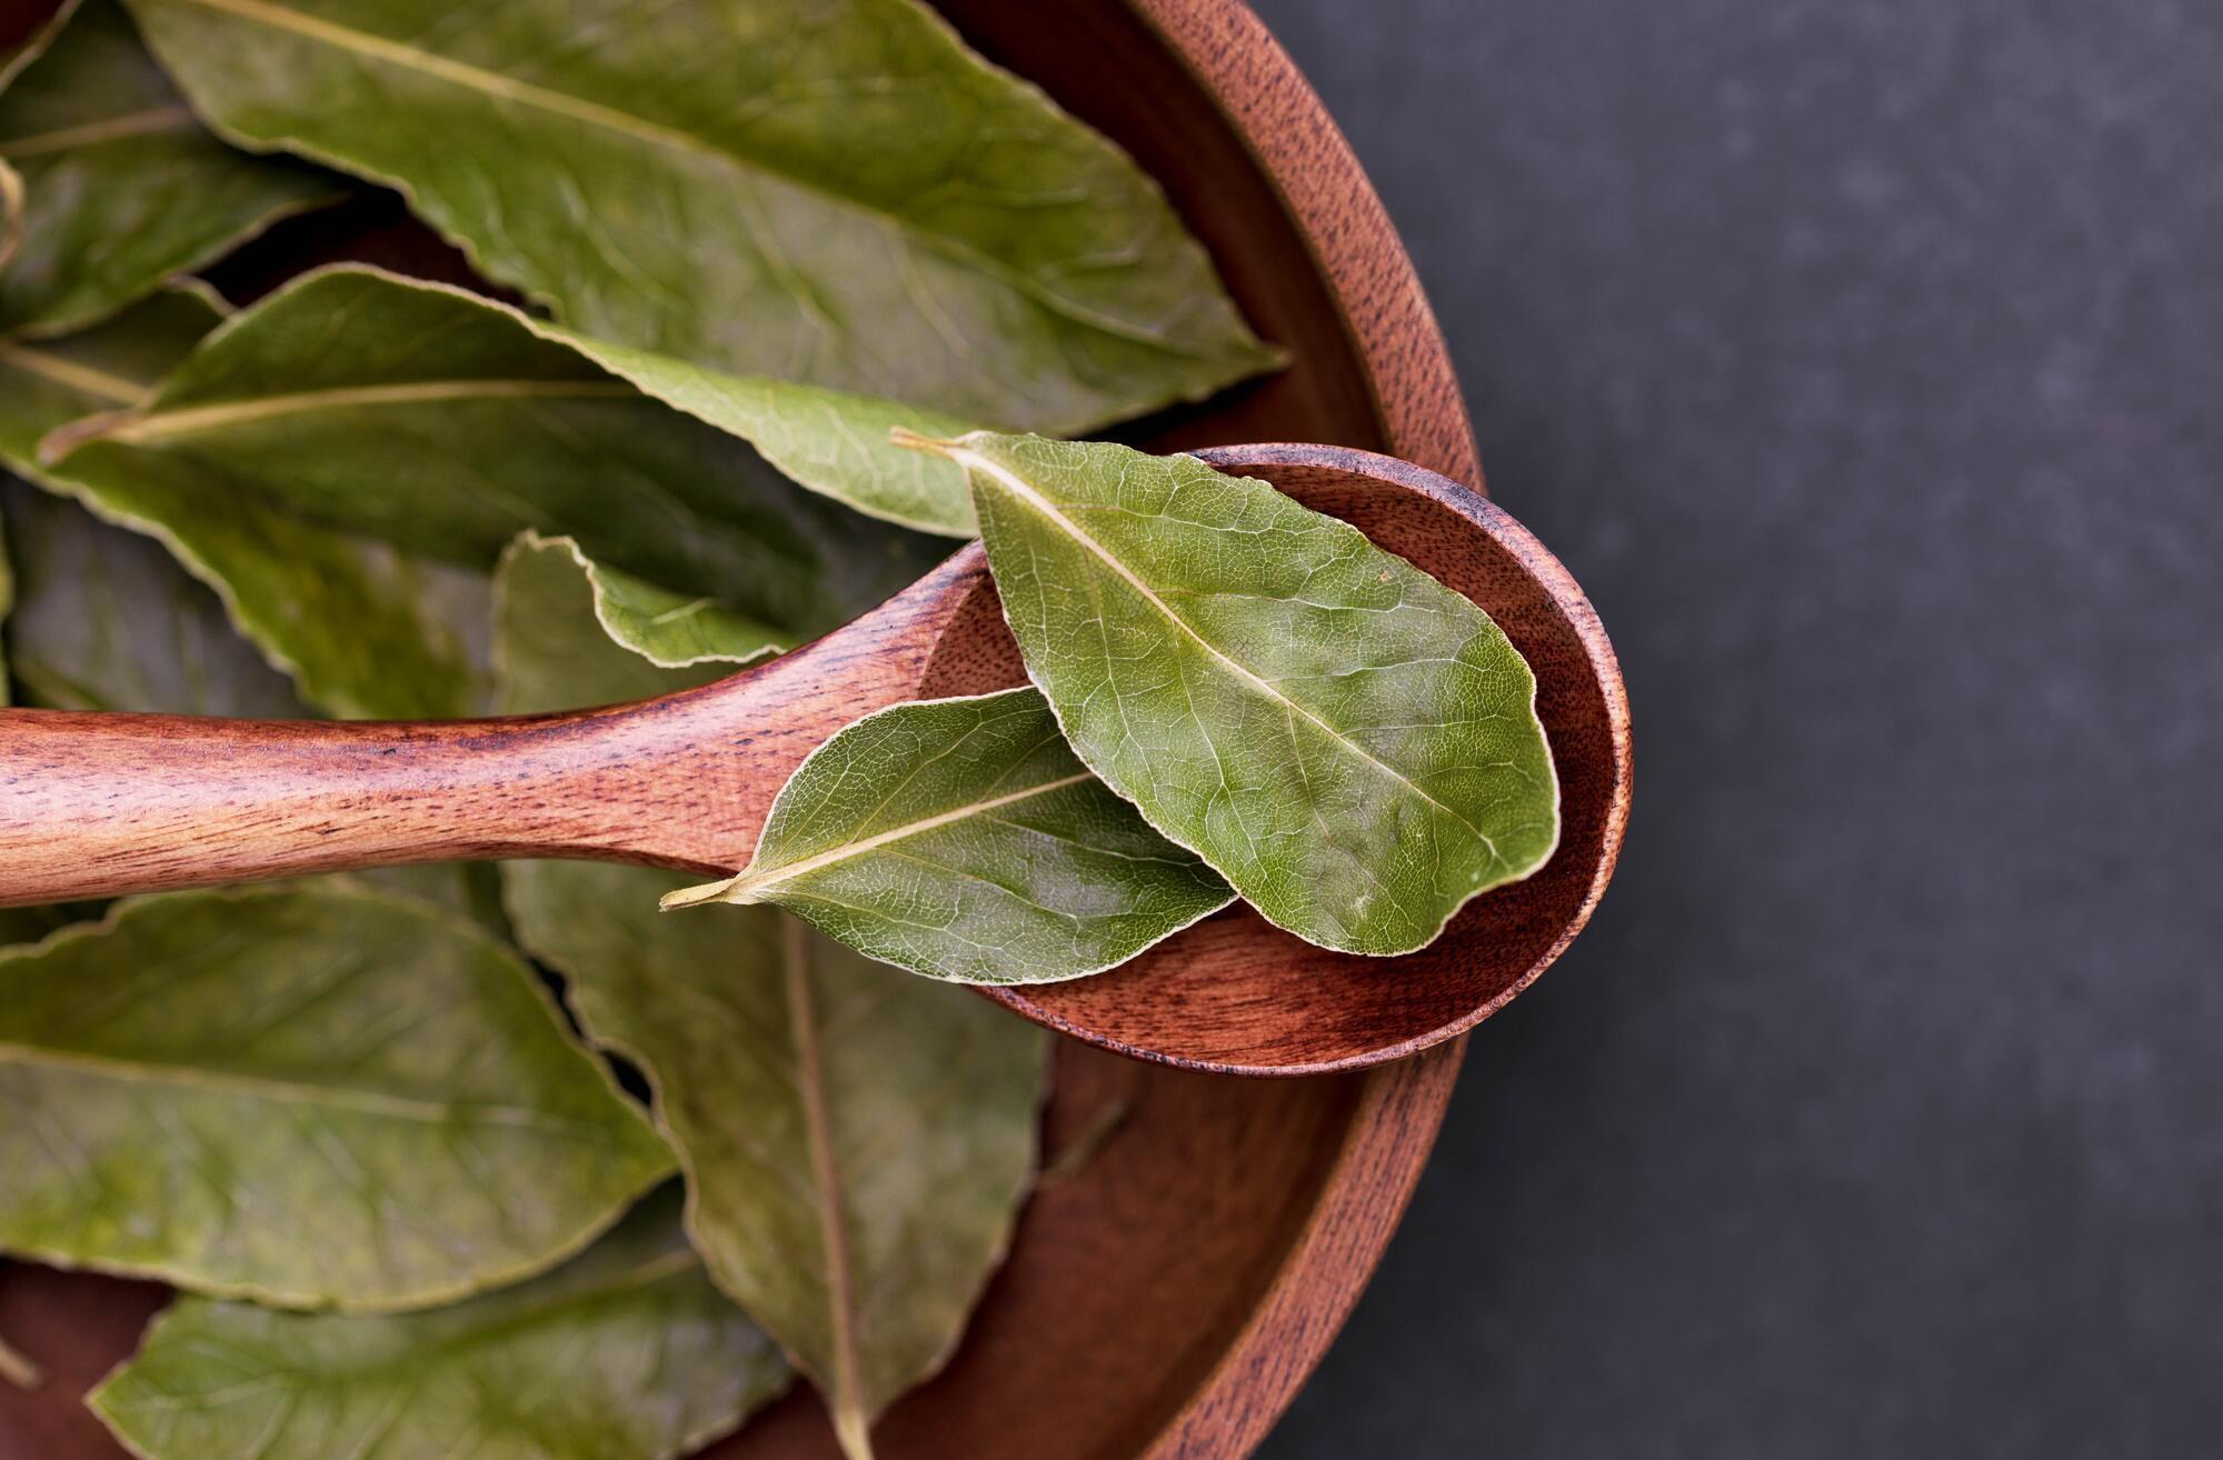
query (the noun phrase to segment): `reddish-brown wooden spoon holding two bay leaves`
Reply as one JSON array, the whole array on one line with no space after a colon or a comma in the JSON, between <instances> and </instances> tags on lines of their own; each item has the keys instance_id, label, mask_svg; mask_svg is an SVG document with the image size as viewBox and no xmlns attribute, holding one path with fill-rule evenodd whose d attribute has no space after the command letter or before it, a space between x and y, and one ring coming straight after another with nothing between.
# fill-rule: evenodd
<instances>
[{"instance_id":1,"label":"reddish-brown wooden spoon holding two bay leaves","mask_svg":"<svg viewBox=\"0 0 2223 1460\"><path fill-rule=\"evenodd\" d=\"M1196 456L1352 522L1498 620L1536 669L1561 847L1407 958L1329 953L1238 904L1112 973L987 993L1094 1044L1216 1071L1414 1053L1527 987L1612 876L1629 809L1614 649L1558 560L1458 482L1340 447ZM0 711L0 904L449 858L727 873L789 771L843 724L1023 682L971 544L845 629L640 704L433 722Z\"/></svg>"}]
</instances>

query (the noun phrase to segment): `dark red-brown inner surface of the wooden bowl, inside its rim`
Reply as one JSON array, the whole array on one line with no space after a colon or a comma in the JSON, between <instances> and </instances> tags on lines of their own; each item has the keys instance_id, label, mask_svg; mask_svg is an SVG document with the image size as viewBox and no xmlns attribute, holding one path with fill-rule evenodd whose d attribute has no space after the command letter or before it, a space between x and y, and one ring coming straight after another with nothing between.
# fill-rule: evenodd
<instances>
[{"instance_id":1,"label":"dark red-brown inner surface of the wooden bowl, inside its rim","mask_svg":"<svg viewBox=\"0 0 2223 1460\"><path fill-rule=\"evenodd\" d=\"M1258 440L1396 449L1385 440L1367 362L1276 182L1136 9L1120 0L945 0L940 9L987 56L1129 147L1212 249L1254 327L1292 351L1287 371L1143 422L1127 433L1132 440L1156 449ZM1238 7L1218 0L1194 9L1240 20ZM1240 24L1229 29L1236 40L1240 33ZM1265 62L1269 71L1280 64L1274 56ZM1298 82L1289 76L1283 84ZM222 282L251 293L302 260L365 256L418 273L456 273L451 251L396 204L371 202L282 224L227 264ZM1447 391L1447 373L1436 384ZM1449 400L1456 416L1456 396ZM1463 422L1456 429L1463 433ZM1060 1169L1027 1207L1011 1258L949 1367L876 1431L880 1453L1243 1453L1240 1438L1192 1449L1178 1438L1160 1447L1160 1436L1207 1389L1276 1280L1316 1240L1338 1182L1367 1187L1349 1236L1338 1238L1356 1249L1338 1260L1340 1269L1363 1273L1372 1264L1418 1160L1412 1140L1425 1149L1441 1118L1456 1067L1456 1056L1445 1056L1374 1076L1260 1082L1138 1064L1065 1042L1045 1136L1047 1160ZM1389 1109L1407 1144L1396 1160L1369 1167L1354 1151L1374 1140L1369 1111L1385 1109L1383 1091L1403 1091ZM1309 1307L1287 1320L1298 1338L1280 1347L1276 1362L1294 1364L1298 1376L1309 1369L1347 1298L1296 1298ZM0 1456L122 1456L78 1409L78 1396L131 1351L160 1300L153 1284L0 1267L0 1333L51 1376L33 1393L0 1384ZM1276 1398L1260 1400L1256 1422L1225 1433L1263 1429L1292 1382L1274 1376L1258 1384ZM816 1398L798 1391L709 1453L798 1460L834 1458L836 1449Z\"/></svg>"}]
</instances>

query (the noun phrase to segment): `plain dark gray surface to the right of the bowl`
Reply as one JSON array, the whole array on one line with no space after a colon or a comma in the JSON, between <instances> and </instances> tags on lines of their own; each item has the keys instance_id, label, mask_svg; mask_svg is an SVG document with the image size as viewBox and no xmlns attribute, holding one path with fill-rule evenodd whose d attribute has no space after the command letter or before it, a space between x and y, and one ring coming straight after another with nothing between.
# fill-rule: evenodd
<instances>
[{"instance_id":1,"label":"plain dark gray surface to the right of the bowl","mask_svg":"<svg viewBox=\"0 0 2223 1460\"><path fill-rule=\"evenodd\" d=\"M2223 1453L2223 7L1256 2L1638 744L1263 1456Z\"/></svg>"}]
</instances>

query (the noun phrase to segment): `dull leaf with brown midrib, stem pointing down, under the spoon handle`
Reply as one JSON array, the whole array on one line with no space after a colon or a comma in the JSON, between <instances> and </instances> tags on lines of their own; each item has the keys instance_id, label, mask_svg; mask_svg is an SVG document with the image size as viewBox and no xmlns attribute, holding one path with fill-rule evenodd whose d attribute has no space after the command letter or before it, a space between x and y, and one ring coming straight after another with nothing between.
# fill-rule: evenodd
<instances>
[{"instance_id":1,"label":"dull leaf with brown midrib, stem pointing down, under the spoon handle","mask_svg":"<svg viewBox=\"0 0 2223 1460\"><path fill-rule=\"evenodd\" d=\"M505 684L511 711L602 698L614 673L638 687L607 660L645 660L600 631L582 596L569 622L580 698L554 676L518 676ZM556 642L554 624L536 638ZM509 673L525 656L505 631L496 658ZM680 689L705 669L656 673ZM654 1084L718 1287L811 1376L849 1453L869 1453L871 1420L943 1364L1003 1260L1034 1173L1047 1038L769 907L658 913L674 880L596 862L502 867L518 940L565 973L589 1038Z\"/></svg>"}]
</instances>

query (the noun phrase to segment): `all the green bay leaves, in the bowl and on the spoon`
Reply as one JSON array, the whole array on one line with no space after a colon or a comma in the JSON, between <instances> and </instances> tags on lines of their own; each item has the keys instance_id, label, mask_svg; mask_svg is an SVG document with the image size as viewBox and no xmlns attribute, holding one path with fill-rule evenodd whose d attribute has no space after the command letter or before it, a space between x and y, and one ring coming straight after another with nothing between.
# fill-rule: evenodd
<instances>
[{"instance_id":1,"label":"all the green bay leaves, in the bowl and on the spoon","mask_svg":"<svg viewBox=\"0 0 2223 1460\"><path fill-rule=\"evenodd\" d=\"M378 189L491 287L193 278ZM64 0L0 53L0 209L20 704L634 700L976 533L1036 682L840 731L709 889L0 911L0 1249L185 1293L91 1396L136 1453L665 1458L800 1371L867 1456L1036 1171L1043 1036L949 982L1236 896L1398 953L1556 842L1487 616L1260 482L1051 440L1278 356L914 0Z\"/></svg>"}]
</instances>

